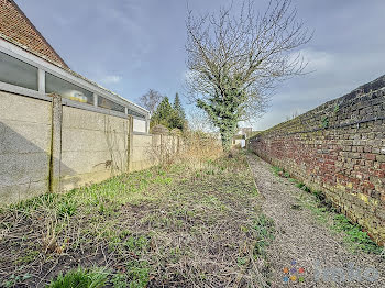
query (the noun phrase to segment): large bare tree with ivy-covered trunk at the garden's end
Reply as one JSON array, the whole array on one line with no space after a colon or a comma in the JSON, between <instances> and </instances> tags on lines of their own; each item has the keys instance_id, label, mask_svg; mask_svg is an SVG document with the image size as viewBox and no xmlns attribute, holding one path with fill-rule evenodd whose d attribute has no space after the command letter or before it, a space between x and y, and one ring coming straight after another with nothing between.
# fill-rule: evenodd
<instances>
[{"instance_id":1,"label":"large bare tree with ivy-covered trunk at the garden's end","mask_svg":"<svg viewBox=\"0 0 385 288\"><path fill-rule=\"evenodd\" d=\"M195 16L187 27L187 92L219 128L230 148L240 121L257 119L280 81L300 75L306 66L295 49L311 35L297 21L290 0L272 0L266 12L254 12L244 0L219 13Z\"/></svg>"}]
</instances>

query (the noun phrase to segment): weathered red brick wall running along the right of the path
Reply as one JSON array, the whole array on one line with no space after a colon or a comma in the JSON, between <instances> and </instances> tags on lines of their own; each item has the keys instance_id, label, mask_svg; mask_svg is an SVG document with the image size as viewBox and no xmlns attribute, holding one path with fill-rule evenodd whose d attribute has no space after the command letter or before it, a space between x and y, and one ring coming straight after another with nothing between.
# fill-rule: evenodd
<instances>
[{"instance_id":1,"label":"weathered red brick wall running along the right of the path","mask_svg":"<svg viewBox=\"0 0 385 288\"><path fill-rule=\"evenodd\" d=\"M252 137L248 146L385 244L385 76Z\"/></svg>"}]
</instances>

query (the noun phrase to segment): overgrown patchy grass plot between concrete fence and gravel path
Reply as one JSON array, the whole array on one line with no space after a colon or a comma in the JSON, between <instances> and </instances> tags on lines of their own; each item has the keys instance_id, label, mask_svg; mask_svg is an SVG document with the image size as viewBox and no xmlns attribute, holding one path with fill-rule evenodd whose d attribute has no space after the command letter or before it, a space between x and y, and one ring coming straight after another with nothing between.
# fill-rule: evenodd
<instances>
[{"instance_id":1,"label":"overgrown patchy grass plot between concrete fence and gravel path","mask_svg":"<svg viewBox=\"0 0 385 288\"><path fill-rule=\"evenodd\" d=\"M239 153L19 202L0 211L0 286L267 287L257 195Z\"/></svg>"}]
</instances>

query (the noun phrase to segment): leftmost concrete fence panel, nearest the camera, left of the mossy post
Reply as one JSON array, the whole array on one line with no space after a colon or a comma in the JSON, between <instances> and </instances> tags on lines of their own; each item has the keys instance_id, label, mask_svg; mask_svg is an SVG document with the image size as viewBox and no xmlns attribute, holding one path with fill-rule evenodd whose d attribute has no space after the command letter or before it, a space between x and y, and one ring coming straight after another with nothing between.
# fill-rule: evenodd
<instances>
[{"instance_id":1,"label":"leftmost concrete fence panel, nearest the camera, left of the mossy post","mask_svg":"<svg viewBox=\"0 0 385 288\"><path fill-rule=\"evenodd\" d=\"M48 190L51 107L0 91L0 203Z\"/></svg>"}]
</instances>

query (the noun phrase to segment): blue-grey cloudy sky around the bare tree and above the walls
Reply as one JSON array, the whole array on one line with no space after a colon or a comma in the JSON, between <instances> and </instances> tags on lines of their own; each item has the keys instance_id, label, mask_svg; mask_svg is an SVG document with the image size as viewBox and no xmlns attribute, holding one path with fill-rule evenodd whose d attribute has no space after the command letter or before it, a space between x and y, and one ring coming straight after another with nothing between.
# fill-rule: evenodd
<instances>
[{"instance_id":1,"label":"blue-grey cloudy sky around the bare tree and above the walls","mask_svg":"<svg viewBox=\"0 0 385 288\"><path fill-rule=\"evenodd\" d=\"M255 0L264 11L268 0ZM233 0L237 4L240 0ZM150 88L174 98L186 74L185 0L16 0L69 67L136 101ZM189 0L199 13L228 0ZM314 73L279 87L264 130L385 74L384 0L293 0L315 31L302 47Z\"/></svg>"}]
</instances>

